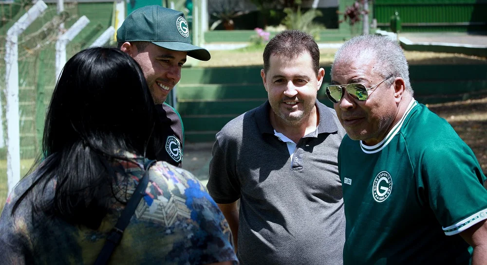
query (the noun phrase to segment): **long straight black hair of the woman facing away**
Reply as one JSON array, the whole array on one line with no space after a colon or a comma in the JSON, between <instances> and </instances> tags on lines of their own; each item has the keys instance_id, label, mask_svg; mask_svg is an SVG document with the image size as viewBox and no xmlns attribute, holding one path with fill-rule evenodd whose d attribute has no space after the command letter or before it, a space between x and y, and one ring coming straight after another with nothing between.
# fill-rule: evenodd
<instances>
[{"instance_id":1,"label":"long straight black hair of the woman facing away","mask_svg":"<svg viewBox=\"0 0 487 265\"><path fill-rule=\"evenodd\" d=\"M116 193L112 162L128 159L124 152L155 159L163 149L157 121L144 74L129 55L114 48L76 53L64 66L47 111L45 159L12 214L31 193L34 210L96 229ZM54 201L46 202L42 196L53 179Z\"/></svg>"}]
</instances>

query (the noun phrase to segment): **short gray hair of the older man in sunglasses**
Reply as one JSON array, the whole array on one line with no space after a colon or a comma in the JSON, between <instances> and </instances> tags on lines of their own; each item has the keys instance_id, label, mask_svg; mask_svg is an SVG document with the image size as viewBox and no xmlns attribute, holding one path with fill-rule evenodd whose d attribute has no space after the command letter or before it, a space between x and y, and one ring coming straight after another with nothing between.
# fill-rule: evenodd
<instances>
[{"instance_id":1,"label":"short gray hair of the older man in sunglasses","mask_svg":"<svg viewBox=\"0 0 487 265\"><path fill-rule=\"evenodd\" d=\"M396 41L380 35L360 35L347 40L335 53L334 63L338 61L350 61L360 58L361 55L372 55L377 60L374 72L383 78L389 76L402 77L406 91L411 92L409 81L408 62L401 46ZM333 64L330 74L333 72ZM392 84L392 80L388 80Z\"/></svg>"}]
</instances>

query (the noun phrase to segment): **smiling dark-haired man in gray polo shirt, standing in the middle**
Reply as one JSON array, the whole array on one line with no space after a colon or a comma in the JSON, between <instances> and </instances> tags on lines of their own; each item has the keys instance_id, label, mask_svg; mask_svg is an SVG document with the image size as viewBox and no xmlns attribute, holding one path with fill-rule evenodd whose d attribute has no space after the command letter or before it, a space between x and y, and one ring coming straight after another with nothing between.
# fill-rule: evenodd
<instances>
[{"instance_id":1,"label":"smiling dark-haired man in gray polo shirt, standing in the middle","mask_svg":"<svg viewBox=\"0 0 487 265\"><path fill-rule=\"evenodd\" d=\"M325 73L318 45L311 35L283 31L263 59L268 101L216 135L208 191L230 225L241 265L340 265L345 216L337 152L345 131L316 99Z\"/></svg>"}]
</instances>

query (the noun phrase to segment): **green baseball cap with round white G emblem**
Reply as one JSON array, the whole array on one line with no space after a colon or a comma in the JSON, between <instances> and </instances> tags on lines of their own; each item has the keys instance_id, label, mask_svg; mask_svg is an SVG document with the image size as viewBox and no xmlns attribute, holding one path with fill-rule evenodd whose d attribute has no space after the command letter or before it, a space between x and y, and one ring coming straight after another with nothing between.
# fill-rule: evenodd
<instances>
[{"instance_id":1,"label":"green baseball cap with round white G emblem","mask_svg":"<svg viewBox=\"0 0 487 265\"><path fill-rule=\"evenodd\" d=\"M189 43L189 27L183 12L159 5L148 5L134 10L117 30L117 42L150 41L173 51L187 52L188 56L207 61L210 53Z\"/></svg>"}]
</instances>

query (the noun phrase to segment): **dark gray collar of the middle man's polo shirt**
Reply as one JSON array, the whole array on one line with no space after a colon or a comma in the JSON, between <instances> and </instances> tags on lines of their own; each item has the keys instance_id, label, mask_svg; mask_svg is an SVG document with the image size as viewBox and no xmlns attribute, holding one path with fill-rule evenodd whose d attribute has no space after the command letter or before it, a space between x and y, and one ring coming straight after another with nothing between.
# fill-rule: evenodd
<instances>
[{"instance_id":1,"label":"dark gray collar of the middle man's polo shirt","mask_svg":"<svg viewBox=\"0 0 487 265\"><path fill-rule=\"evenodd\" d=\"M331 109L319 102L318 100L316 101L315 106L317 107L319 113L318 128L314 132L309 133L306 136L318 137L318 134L320 133L336 132L338 130L338 126L335 122L335 119L333 118L333 112L331 111ZM272 127L269 118L270 109L271 105L269 101L266 100L264 104L257 107L255 111L255 120L257 122L257 127L262 134L269 133L274 135L274 128Z\"/></svg>"}]
</instances>

